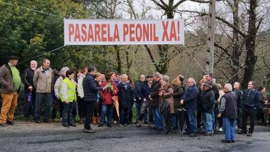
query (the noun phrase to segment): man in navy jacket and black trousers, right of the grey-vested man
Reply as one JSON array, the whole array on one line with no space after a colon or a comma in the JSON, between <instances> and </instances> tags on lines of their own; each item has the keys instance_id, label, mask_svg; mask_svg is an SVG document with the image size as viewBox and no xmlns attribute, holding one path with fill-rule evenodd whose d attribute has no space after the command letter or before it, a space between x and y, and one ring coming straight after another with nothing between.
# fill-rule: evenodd
<instances>
[{"instance_id":1,"label":"man in navy jacket and black trousers, right of the grey-vested man","mask_svg":"<svg viewBox=\"0 0 270 152\"><path fill-rule=\"evenodd\" d=\"M260 95L254 88L254 81L249 81L248 89L243 92L242 102L242 131L239 134L247 134L247 121L250 118L250 128L247 136L251 136L255 124L255 110L260 102Z\"/></svg>"}]
</instances>

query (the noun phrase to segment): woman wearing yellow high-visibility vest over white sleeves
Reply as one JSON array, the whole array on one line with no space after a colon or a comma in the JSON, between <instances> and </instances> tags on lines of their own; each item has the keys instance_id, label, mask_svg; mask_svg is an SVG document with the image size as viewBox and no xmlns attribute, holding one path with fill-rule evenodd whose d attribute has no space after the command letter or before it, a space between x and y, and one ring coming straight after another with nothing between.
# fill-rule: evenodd
<instances>
[{"instance_id":1,"label":"woman wearing yellow high-visibility vest over white sleeves","mask_svg":"<svg viewBox=\"0 0 270 152\"><path fill-rule=\"evenodd\" d=\"M76 85L74 82L74 71L67 70L65 79L59 86L60 99L63 104L62 124L64 127L76 127L72 118L72 110L75 106L76 98Z\"/></svg>"}]
</instances>

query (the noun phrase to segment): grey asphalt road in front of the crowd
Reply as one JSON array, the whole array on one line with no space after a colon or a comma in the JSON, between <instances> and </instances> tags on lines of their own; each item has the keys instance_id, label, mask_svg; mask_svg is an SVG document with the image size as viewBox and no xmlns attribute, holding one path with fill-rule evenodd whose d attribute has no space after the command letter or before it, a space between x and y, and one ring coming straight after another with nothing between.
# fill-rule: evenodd
<instances>
[{"instance_id":1,"label":"grey asphalt road in front of the crowd","mask_svg":"<svg viewBox=\"0 0 270 152\"><path fill-rule=\"evenodd\" d=\"M61 123L18 122L19 126L0 128L0 151L93 151L93 152L269 152L270 127L256 126L252 137L237 134L235 143L222 143L224 134L213 136L198 135L196 138L180 135L173 130L166 135L147 126L136 128L97 127L92 125L95 134L83 133L83 125L63 127Z\"/></svg>"}]
</instances>

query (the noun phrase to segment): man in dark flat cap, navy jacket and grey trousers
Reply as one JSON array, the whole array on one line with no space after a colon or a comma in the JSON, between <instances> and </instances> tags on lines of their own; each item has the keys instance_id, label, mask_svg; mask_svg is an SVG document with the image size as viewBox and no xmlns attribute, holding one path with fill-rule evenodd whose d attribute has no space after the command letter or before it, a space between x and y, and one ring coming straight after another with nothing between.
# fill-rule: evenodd
<instances>
[{"instance_id":1,"label":"man in dark flat cap, navy jacket and grey trousers","mask_svg":"<svg viewBox=\"0 0 270 152\"><path fill-rule=\"evenodd\" d=\"M152 91L152 83L153 83L153 75L148 75L146 77L147 79L147 83L145 83L145 85L141 88L141 94L142 94L142 100L143 100L143 104L141 107L141 111L140 111L140 115L138 117L138 123L136 125L136 127L141 127L141 122L142 119L144 118L145 113L147 112L147 108L149 110L149 122L148 124L150 125L150 123L153 120L153 114L152 114L152 105L150 105L150 99L149 99L149 95L150 92Z\"/></svg>"}]
</instances>

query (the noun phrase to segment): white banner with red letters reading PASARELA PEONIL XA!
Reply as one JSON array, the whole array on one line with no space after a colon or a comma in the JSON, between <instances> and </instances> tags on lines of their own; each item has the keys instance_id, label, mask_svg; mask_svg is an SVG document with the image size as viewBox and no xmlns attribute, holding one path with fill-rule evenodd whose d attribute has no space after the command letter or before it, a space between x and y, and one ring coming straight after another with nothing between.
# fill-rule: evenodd
<instances>
[{"instance_id":1,"label":"white banner with red letters reading PASARELA PEONIL XA!","mask_svg":"<svg viewBox=\"0 0 270 152\"><path fill-rule=\"evenodd\" d=\"M65 19L65 45L184 44L184 19Z\"/></svg>"}]
</instances>

